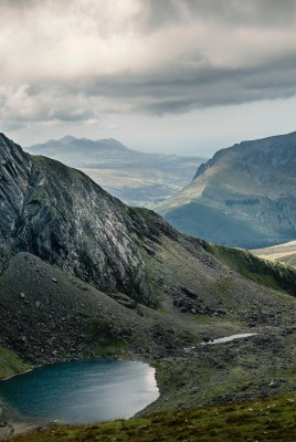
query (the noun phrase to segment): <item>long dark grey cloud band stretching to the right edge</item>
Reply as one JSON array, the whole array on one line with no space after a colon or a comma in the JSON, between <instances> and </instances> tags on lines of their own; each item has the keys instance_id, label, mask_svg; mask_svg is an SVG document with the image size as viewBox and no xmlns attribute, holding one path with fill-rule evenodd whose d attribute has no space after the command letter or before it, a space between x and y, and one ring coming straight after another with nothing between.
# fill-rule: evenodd
<instances>
[{"instance_id":1,"label":"long dark grey cloud band stretching to the right edge","mask_svg":"<svg viewBox=\"0 0 296 442\"><path fill-rule=\"evenodd\" d=\"M184 70L176 64L169 73L99 77L84 84L86 96L128 102L130 110L158 115L183 113L194 107L224 106L293 96L296 92L296 54L252 67ZM80 84L67 93L77 94Z\"/></svg>"}]
</instances>

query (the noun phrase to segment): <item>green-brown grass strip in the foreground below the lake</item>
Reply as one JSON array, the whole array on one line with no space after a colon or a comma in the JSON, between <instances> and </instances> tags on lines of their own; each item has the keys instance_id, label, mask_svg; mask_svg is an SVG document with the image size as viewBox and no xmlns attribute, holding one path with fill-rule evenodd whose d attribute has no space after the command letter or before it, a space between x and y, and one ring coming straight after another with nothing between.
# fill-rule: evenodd
<instances>
[{"instance_id":1,"label":"green-brown grass strip in the foreground below the lake","mask_svg":"<svg viewBox=\"0 0 296 442\"><path fill-rule=\"evenodd\" d=\"M296 394L279 398L184 409L92 425L52 425L45 431L15 436L22 442L229 442L296 440Z\"/></svg>"}]
</instances>

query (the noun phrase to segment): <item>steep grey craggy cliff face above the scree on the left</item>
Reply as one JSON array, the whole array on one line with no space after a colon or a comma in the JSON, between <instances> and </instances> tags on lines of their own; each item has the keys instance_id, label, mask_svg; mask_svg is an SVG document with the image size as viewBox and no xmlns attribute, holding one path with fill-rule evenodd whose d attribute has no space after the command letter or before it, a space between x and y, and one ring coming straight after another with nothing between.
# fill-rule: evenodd
<instances>
[{"instance_id":1,"label":"steep grey craggy cliff face above the scree on the left","mask_svg":"<svg viewBox=\"0 0 296 442\"><path fill-rule=\"evenodd\" d=\"M0 160L2 267L11 254L30 252L97 288L156 306L135 241L155 233L136 212L84 173L30 157L3 135Z\"/></svg>"}]
</instances>

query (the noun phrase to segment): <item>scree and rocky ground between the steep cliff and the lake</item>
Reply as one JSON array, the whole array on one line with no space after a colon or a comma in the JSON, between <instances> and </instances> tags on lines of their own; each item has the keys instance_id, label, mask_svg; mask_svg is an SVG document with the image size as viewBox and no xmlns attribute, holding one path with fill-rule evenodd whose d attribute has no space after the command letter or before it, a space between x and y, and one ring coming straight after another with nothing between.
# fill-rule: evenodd
<instances>
[{"instance_id":1,"label":"scree and rocky ground between the steep cliff and the lake","mask_svg":"<svg viewBox=\"0 0 296 442\"><path fill-rule=\"evenodd\" d=\"M170 261L173 269L172 254ZM166 269L157 276L163 286L171 277ZM161 307L151 309L20 253L1 277L1 346L31 366L94 356L148 361L161 394L146 411L295 391L296 298L257 285L245 291L244 284L228 296L222 285L218 304L201 292L163 293ZM211 344L241 333L254 336Z\"/></svg>"}]
</instances>

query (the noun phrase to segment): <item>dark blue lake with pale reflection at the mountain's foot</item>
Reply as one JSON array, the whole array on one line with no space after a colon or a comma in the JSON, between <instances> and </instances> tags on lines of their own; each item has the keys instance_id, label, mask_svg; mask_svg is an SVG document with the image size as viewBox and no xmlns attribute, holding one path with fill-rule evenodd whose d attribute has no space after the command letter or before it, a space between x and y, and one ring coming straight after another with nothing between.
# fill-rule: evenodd
<instances>
[{"instance_id":1,"label":"dark blue lake with pale reflection at the mountain's foot","mask_svg":"<svg viewBox=\"0 0 296 442\"><path fill-rule=\"evenodd\" d=\"M125 360L54 364L0 381L0 397L23 417L66 423L130 418L158 396L154 368Z\"/></svg>"}]
</instances>

